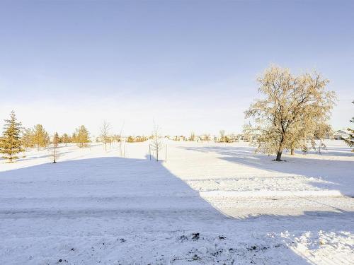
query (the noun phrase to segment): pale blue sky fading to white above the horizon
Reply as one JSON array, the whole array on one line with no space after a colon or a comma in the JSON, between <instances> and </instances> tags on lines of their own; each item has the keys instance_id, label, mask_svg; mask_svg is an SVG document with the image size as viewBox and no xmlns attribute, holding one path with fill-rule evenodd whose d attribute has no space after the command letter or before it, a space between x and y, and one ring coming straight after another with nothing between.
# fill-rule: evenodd
<instances>
[{"instance_id":1,"label":"pale blue sky fading to white above the horizon","mask_svg":"<svg viewBox=\"0 0 354 265\"><path fill-rule=\"evenodd\" d=\"M0 1L0 125L240 132L270 64L321 72L354 115L354 1Z\"/></svg>"}]
</instances>

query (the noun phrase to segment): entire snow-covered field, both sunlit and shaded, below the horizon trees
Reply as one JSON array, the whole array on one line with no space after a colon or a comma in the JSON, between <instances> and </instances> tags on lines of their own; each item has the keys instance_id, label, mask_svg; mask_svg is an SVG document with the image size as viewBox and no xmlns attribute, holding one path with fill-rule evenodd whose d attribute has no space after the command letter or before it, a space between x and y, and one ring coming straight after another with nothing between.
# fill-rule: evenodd
<instances>
[{"instance_id":1,"label":"entire snow-covered field, both sunlit and shaded, below the horizon trees","mask_svg":"<svg viewBox=\"0 0 354 265\"><path fill-rule=\"evenodd\" d=\"M247 143L28 151L0 160L0 264L353 264L354 153ZM165 158L164 151L161 157Z\"/></svg>"}]
</instances>

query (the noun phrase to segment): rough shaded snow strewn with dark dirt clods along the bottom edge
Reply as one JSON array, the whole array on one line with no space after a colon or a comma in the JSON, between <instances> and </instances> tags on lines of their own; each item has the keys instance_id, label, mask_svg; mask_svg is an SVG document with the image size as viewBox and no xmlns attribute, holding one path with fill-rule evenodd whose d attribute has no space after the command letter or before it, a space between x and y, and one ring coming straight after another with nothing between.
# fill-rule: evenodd
<instances>
[{"instance_id":1,"label":"rough shaded snow strewn with dark dirt clods along the bottom edge","mask_svg":"<svg viewBox=\"0 0 354 265\"><path fill-rule=\"evenodd\" d=\"M277 237L173 232L127 237L46 237L26 242L11 264L292 264L297 257ZM280 255L282 253L282 255ZM25 258L26 257L26 258Z\"/></svg>"}]
</instances>

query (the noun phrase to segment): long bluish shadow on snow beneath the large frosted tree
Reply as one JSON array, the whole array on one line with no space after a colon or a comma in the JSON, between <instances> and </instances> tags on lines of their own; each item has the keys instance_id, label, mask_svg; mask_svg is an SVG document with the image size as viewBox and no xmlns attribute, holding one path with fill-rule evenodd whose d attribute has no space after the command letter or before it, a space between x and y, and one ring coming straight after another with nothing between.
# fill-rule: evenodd
<instances>
[{"instance_id":1,"label":"long bluish shadow on snow beneath the large frosted tree","mask_svg":"<svg viewBox=\"0 0 354 265\"><path fill-rule=\"evenodd\" d=\"M273 156L254 153L251 147L182 147L189 151L217 153L219 159L247 167L308 177L308 184L319 189L338 190L343 195L353 196L353 161L286 156L286 162L277 162ZM336 148L341 150L341 148ZM343 148L346 149L346 148Z\"/></svg>"}]
</instances>

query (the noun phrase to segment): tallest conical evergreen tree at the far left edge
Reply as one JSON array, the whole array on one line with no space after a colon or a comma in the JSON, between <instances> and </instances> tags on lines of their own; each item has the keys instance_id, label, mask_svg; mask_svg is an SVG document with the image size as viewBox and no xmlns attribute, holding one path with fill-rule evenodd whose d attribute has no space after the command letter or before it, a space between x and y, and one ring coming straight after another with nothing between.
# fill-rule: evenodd
<instances>
[{"instance_id":1,"label":"tallest conical evergreen tree at the far left edge","mask_svg":"<svg viewBox=\"0 0 354 265\"><path fill-rule=\"evenodd\" d=\"M8 159L10 163L18 159L18 153L23 152L21 143L21 122L16 122L15 112L11 112L10 119L5 119L4 137L0 143L0 153L2 158Z\"/></svg>"}]
</instances>

